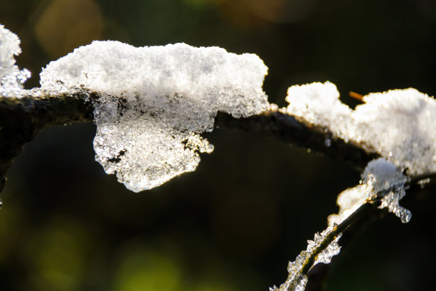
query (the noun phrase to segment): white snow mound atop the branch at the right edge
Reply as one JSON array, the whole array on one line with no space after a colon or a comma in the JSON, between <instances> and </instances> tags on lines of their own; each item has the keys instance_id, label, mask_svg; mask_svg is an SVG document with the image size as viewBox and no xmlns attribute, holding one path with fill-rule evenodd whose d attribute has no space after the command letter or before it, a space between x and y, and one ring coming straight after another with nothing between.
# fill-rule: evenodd
<instances>
[{"instance_id":1,"label":"white snow mound atop the branch at the right edge","mask_svg":"<svg viewBox=\"0 0 436 291\"><path fill-rule=\"evenodd\" d=\"M408 88L370 93L354 111L332 83L292 86L286 111L337 137L375 150L409 175L436 171L436 101Z\"/></svg>"}]
</instances>

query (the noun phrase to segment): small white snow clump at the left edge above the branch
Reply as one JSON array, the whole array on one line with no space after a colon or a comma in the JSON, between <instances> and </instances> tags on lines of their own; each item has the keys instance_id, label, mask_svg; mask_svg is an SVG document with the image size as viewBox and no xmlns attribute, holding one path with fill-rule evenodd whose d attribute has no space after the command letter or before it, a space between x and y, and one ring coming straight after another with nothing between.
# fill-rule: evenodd
<instances>
[{"instance_id":1,"label":"small white snow clump at the left edge above the branch","mask_svg":"<svg viewBox=\"0 0 436 291\"><path fill-rule=\"evenodd\" d=\"M19 70L14 56L21 53L20 39L0 24L0 96L19 97L23 94L23 83L30 77L25 68Z\"/></svg>"}]
</instances>

